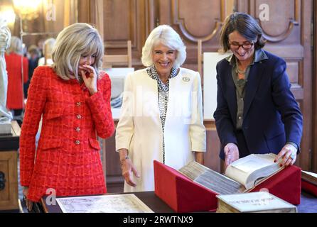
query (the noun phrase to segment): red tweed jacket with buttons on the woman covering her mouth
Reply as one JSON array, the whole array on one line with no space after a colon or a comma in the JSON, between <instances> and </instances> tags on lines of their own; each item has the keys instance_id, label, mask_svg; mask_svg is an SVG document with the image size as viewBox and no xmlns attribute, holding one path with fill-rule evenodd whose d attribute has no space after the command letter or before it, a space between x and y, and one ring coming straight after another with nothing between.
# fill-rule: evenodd
<instances>
[{"instance_id":1,"label":"red tweed jacket with buttons on the woman covering her mouth","mask_svg":"<svg viewBox=\"0 0 317 227\"><path fill-rule=\"evenodd\" d=\"M28 187L31 201L39 201L47 189L55 189L57 196L107 192L97 135L112 135L114 122L111 84L104 72L97 90L90 96L85 84L61 79L48 66L34 71L20 138L21 185Z\"/></svg>"}]
</instances>

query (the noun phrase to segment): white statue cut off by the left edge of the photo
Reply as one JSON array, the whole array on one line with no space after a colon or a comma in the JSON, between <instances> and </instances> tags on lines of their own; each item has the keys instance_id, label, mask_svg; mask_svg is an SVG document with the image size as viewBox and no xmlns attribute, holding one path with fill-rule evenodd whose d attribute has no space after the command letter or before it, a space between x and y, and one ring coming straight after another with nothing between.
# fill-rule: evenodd
<instances>
[{"instance_id":1,"label":"white statue cut off by the left edge of the photo","mask_svg":"<svg viewBox=\"0 0 317 227\"><path fill-rule=\"evenodd\" d=\"M6 60L4 52L9 48L11 33L6 20L0 16L0 123L12 120L12 114L6 109L6 92L8 88L8 74L6 73Z\"/></svg>"}]
</instances>

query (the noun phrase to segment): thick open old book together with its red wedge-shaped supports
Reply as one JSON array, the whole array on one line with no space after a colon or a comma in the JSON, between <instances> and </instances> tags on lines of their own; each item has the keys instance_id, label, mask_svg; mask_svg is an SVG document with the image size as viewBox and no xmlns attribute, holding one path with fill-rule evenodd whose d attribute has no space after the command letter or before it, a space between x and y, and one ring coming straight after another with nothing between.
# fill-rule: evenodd
<instances>
[{"instance_id":1,"label":"thick open old book together with its red wedge-shaped supports","mask_svg":"<svg viewBox=\"0 0 317 227\"><path fill-rule=\"evenodd\" d=\"M263 157L264 162L267 158L272 159L272 162L265 166L262 165L264 162L260 162L260 167L248 164L250 161L253 161L253 164L260 160L263 161ZM232 177L236 177L235 175L221 175L203 165L199 165L197 162L190 162L181 170L175 170L154 160L155 194L177 212L215 210L217 209L216 195L249 194L243 192L258 192L263 189L290 204L300 204L301 169L299 167L291 165L286 168L279 168L279 163L274 163L274 155L252 155L243 158L246 161L245 168L243 168L241 160L235 163L239 163L239 165L234 164L236 169L240 168L239 171L245 172L245 177L241 175L237 177L242 178L241 182L232 179ZM273 167L269 167L270 165ZM276 166L274 167L274 165ZM276 167L278 167L278 170L276 170ZM247 170L250 171L247 172ZM235 169L233 172L235 172ZM266 173L265 176L262 174L263 172ZM252 175L255 177L252 177ZM253 183L249 184L249 182ZM254 187L247 189L244 184L253 185Z\"/></svg>"}]
</instances>

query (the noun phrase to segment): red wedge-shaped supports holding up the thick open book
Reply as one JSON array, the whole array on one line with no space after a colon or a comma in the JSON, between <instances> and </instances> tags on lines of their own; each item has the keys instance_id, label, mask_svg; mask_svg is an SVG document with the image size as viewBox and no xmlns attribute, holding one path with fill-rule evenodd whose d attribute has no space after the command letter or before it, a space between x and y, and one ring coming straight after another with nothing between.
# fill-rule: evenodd
<instances>
[{"instance_id":1,"label":"red wedge-shaped supports holding up the thick open book","mask_svg":"<svg viewBox=\"0 0 317 227\"><path fill-rule=\"evenodd\" d=\"M155 194L176 212L215 211L216 192L207 189L172 167L154 160ZM267 189L291 204L300 204L301 169L294 165L269 177L251 192Z\"/></svg>"}]
</instances>

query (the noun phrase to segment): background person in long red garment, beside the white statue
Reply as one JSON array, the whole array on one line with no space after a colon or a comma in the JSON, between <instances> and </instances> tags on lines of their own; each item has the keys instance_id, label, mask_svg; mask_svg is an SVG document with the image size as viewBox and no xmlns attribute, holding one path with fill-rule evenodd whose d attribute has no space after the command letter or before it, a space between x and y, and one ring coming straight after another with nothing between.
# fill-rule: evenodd
<instances>
[{"instance_id":1,"label":"background person in long red garment, beside the white statue","mask_svg":"<svg viewBox=\"0 0 317 227\"><path fill-rule=\"evenodd\" d=\"M6 107L14 111L14 116L21 116L23 110L23 82L28 81L28 59L23 57L22 41L16 36L11 37L11 44L6 55L6 71L8 72L8 92ZM23 62L23 64L22 64Z\"/></svg>"}]
</instances>

